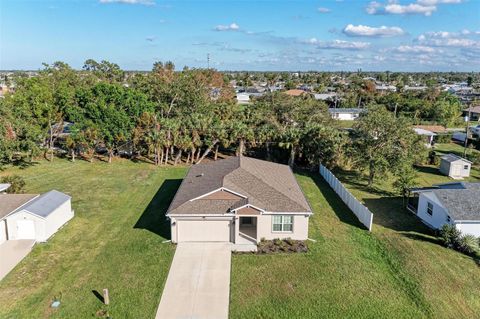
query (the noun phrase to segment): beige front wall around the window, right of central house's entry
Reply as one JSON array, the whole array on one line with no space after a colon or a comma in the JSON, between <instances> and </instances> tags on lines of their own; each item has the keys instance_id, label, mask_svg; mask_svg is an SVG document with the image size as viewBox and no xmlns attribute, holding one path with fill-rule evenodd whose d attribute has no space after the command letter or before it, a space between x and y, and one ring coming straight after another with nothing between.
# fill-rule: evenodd
<instances>
[{"instance_id":1,"label":"beige front wall around the window, right of central house's entry","mask_svg":"<svg viewBox=\"0 0 480 319\"><path fill-rule=\"evenodd\" d=\"M287 215L287 214L285 214ZM308 218L306 215L293 215L293 231L292 232L274 232L272 230L272 216L257 216L257 239L265 238L267 240L279 238L292 238L297 240L306 240L308 238Z\"/></svg>"}]
</instances>

